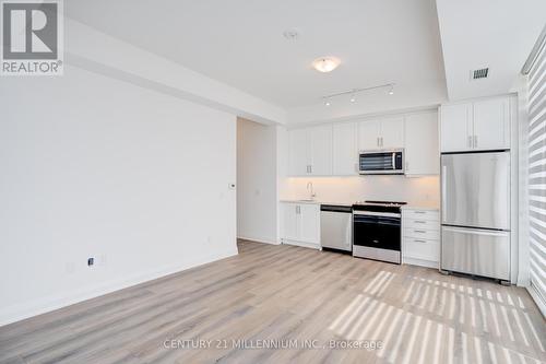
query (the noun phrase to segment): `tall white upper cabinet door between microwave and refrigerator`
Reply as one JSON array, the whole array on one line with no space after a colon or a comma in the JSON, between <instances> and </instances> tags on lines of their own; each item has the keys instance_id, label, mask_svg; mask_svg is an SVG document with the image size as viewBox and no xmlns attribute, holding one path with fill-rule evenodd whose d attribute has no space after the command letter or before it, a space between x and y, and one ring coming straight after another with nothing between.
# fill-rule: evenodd
<instances>
[{"instance_id":1,"label":"tall white upper cabinet door between microwave and refrigerator","mask_svg":"<svg viewBox=\"0 0 546 364\"><path fill-rule=\"evenodd\" d=\"M406 175L438 175L438 114L408 115L405 130Z\"/></svg>"}]
</instances>

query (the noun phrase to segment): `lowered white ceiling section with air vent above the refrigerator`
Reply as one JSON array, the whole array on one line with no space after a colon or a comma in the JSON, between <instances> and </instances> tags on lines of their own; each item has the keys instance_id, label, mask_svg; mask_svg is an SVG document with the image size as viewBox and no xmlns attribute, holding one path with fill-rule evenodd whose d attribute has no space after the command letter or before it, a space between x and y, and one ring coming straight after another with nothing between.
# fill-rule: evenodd
<instances>
[{"instance_id":1,"label":"lowered white ceiling section with air vent above the refrigerator","mask_svg":"<svg viewBox=\"0 0 546 364\"><path fill-rule=\"evenodd\" d=\"M546 0L437 0L450 99L508 93L546 22ZM489 67L489 77L470 72Z\"/></svg>"}]
</instances>

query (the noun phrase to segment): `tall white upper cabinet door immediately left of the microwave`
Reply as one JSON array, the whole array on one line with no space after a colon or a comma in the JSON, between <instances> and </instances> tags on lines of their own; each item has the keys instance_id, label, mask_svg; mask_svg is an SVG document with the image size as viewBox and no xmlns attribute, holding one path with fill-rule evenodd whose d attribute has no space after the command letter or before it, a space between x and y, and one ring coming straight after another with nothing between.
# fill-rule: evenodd
<instances>
[{"instance_id":1,"label":"tall white upper cabinet door immediately left of the microwave","mask_svg":"<svg viewBox=\"0 0 546 364\"><path fill-rule=\"evenodd\" d=\"M356 122L334 124L332 133L333 175L349 176L358 174Z\"/></svg>"}]
</instances>

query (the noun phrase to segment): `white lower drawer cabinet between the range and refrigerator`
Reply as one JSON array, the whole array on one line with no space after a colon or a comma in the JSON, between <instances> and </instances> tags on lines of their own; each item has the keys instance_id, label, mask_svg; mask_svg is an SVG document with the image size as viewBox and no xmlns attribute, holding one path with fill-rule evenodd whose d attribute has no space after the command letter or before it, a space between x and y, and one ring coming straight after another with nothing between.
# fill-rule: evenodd
<instances>
[{"instance_id":1,"label":"white lower drawer cabinet between the range and refrigerator","mask_svg":"<svg viewBox=\"0 0 546 364\"><path fill-rule=\"evenodd\" d=\"M438 268L439 261L439 211L404 209L402 211L402 262Z\"/></svg>"}]
</instances>

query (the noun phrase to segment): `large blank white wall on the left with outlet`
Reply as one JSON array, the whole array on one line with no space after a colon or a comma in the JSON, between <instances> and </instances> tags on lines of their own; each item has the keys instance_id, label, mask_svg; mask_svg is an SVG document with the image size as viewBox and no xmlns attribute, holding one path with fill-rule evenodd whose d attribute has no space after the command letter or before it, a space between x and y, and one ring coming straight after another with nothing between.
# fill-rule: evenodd
<instances>
[{"instance_id":1,"label":"large blank white wall on the left with outlet","mask_svg":"<svg viewBox=\"0 0 546 364\"><path fill-rule=\"evenodd\" d=\"M237 253L235 116L73 67L0 104L0 325Z\"/></svg>"}]
</instances>

